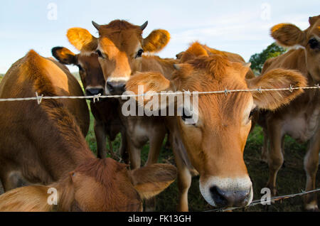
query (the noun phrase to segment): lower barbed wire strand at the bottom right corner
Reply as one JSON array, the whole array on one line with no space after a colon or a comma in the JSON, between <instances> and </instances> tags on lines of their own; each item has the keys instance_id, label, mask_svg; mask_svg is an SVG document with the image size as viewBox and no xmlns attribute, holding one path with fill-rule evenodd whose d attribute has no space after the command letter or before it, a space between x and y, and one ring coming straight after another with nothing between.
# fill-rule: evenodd
<instances>
[{"instance_id":1,"label":"lower barbed wire strand at the bottom right corner","mask_svg":"<svg viewBox=\"0 0 320 226\"><path fill-rule=\"evenodd\" d=\"M302 195L306 195L306 194L309 194L309 193L316 193L316 192L319 192L320 191L320 188L316 188L314 190L309 190L309 191L302 191L301 193L295 193L295 194L291 194L291 195L281 195L281 196L274 196L272 198L267 198L267 200L264 200L265 202L276 202L276 201L279 201L279 200L284 200L284 199L287 199L287 198L294 198L294 197L297 197L297 196L302 196ZM234 208L218 208L218 209L213 209L213 210L206 210L204 212L225 212L225 211L231 211L231 210L238 210L238 209L242 209L242 208L250 208L254 205L263 205L261 200L254 200L252 201L252 203L250 203L250 205L247 205L247 206L241 206L241 207L234 207Z\"/></svg>"}]
</instances>

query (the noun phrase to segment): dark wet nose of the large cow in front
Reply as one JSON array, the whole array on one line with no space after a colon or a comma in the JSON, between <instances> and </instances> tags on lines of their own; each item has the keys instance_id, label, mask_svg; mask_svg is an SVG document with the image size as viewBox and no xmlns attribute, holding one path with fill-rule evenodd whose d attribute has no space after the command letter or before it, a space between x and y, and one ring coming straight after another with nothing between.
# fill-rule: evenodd
<instances>
[{"instance_id":1,"label":"dark wet nose of the large cow in front","mask_svg":"<svg viewBox=\"0 0 320 226\"><path fill-rule=\"evenodd\" d=\"M222 190L217 186L210 188L210 195L219 208L245 206L250 200L249 190Z\"/></svg>"}]
</instances>

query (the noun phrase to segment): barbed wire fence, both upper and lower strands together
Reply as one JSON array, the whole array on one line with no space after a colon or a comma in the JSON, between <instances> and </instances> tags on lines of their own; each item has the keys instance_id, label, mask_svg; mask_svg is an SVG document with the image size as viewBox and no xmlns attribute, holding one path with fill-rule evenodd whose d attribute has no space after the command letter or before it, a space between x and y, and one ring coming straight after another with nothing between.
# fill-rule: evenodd
<instances>
[{"instance_id":1,"label":"barbed wire fence, both upper and lower strands together","mask_svg":"<svg viewBox=\"0 0 320 226\"><path fill-rule=\"evenodd\" d=\"M38 92L36 92L36 96L35 97L18 97L18 98L1 98L0 102L14 102L14 101L30 101L30 100L36 100L38 104L41 104L43 99L92 99L93 102L95 101L99 101L100 99L104 99L104 98L127 98L127 97L151 97L151 96L155 96L155 95L183 95L183 94L187 94L187 95L210 95L210 94L231 94L234 92L274 92L274 91L289 91L289 92L293 92L294 90L311 90L311 89L317 89L319 90L319 84L316 84L314 86L309 86L309 87L293 87L292 85L290 85L288 88L275 88L275 89L262 89L257 88L257 89L248 89L248 90L218 90L218 91L206 91L206 92L190 92L190 91L186 91L183 90L183 92L154 92L154 93L144 93L144 94L138 94L138 95L92 95L92 96L43 96L43 95L38 95ZM306 194L310 194L310 193L317 193L320 191L320 188L316 188L315 190L309 190L309 191L302 191L301 193L295 193L295 194L291 194L291 195L281 195L281 196L275 196L272 198L268 198L266 201L270 201L270 202L276 202L279 200L284 200L287 198L294 198L297 196L302 196L302 195L306 195ZM250 205L247 205L245 207L234 207L234 208L218 208L218 209L213 209L213 210L206 210L204 212L224 212L224 211L231 211L231 210L238 210L238 209L247 209L250 208L254 205L262 205L262 201L261 200L254 200L252 201L252 203L250 203Z\"/></svg>"}]
</instances>

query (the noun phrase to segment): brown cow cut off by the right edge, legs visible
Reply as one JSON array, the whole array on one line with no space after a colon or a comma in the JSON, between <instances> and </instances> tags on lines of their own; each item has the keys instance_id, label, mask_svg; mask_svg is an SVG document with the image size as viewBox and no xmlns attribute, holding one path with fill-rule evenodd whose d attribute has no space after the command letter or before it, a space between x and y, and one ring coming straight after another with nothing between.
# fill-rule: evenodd
<instances>
[{"instance_id":1,"label":"brown cow cut off by the right edge, legs visible","mask_svg":"<svg viewBox=\"0 0 320 226\"><path fill-rule=\"evenodd\" d=\"M280 45L286 47L302 46L289 50L277 58L267 60L262 75L274 68L299 70L308 85L315 85L320 80L320 16L309 18L310 26L301 31L297 26L289 23L280 23L271 28L272 37ZM316 171L319 162L320 150L320 97L319 90L305 90L304 94L294 99L288 106L276 112L267 112L264 115L265 145L262 153L267 158L270 177L267 186L275 195L277 172L284 162L282 154L284 135L288 134L298 141L309 141L308 151L304 157L306 171L306 190L316 188ZM267 151L267 140L270 139L270 149ZM306 210L318 210L316 194L306 195Z\"/></svg>"}]
</instances>

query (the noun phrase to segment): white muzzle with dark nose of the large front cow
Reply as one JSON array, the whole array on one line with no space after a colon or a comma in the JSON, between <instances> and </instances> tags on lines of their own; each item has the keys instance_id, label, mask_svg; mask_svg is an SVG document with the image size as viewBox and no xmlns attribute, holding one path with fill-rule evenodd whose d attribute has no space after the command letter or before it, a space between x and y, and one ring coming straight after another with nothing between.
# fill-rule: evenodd
<instances>
[{"instance_id":1,"label":"white muzzle with dark nose of the large front cow","mask_svg":"<svg viewBox=\"0 0 320 226\"><path fill-rule=\"evenodd\" d=\"M247 206L250 205L253 198L252 182L249 176L242 178L201 177L200 191L207 203L218 208Z\"/></svg>"}]
</instances>

